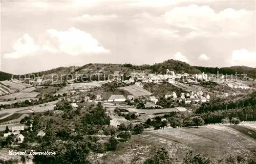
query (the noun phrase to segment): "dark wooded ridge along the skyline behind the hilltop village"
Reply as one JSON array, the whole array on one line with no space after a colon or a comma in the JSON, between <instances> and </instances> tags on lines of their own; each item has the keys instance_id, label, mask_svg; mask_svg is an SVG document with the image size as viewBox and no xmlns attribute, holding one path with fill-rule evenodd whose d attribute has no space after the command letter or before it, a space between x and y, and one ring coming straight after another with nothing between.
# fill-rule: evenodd
<instances>
[{"instance_id":1,"label":"dark wooded ridge along the skyline behind the hilltop village","mask_svg":"<svg viewBox=\"0 0 256 164\"><path fill-rule=\"evenodd\" d=\"M150 73L165 74L166 69L169 71L175 71L176 73L188 73L188 74L199 74L199 73L209 73L209 74L224 74L224 75L236 75L237 74L246 74L247 77L256 79L256 68L247 67L247 66L231 66L231 67L203 67L203 66L191 66L185 62L178 60L166 60L161 63L155 63L153 65L133 65L133 64L98 64L98 63L89 63L81 67L58 67L50 69L48 71L42 71L33 73L38 76L49 75L53 73L75 73L81 71L82 69L90 68L91 73L99 71L102 67L108 69L109 73L114 73L114 71L120 71L121 74L130 73L131 71L145 71ZM75 68L75 69L73 69ZM73 71L72 71L73 69ZM105 70L104 70L105 71ZM10 80L12 74L0 72L0 81ZM25 74L24 77L28 77L28 74Z\"/></svg>"}]
</instances>

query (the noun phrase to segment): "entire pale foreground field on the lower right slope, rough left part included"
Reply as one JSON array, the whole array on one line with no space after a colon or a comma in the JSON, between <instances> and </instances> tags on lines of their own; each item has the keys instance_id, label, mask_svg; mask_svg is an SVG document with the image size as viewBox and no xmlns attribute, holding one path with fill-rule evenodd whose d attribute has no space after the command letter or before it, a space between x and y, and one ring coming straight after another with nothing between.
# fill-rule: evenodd
<instances>
[{"instance_id":1,"label":"entire pale foreground field on the lower right slope, rough left part included","mask_svg":"<svg viewBox=\"0 0 256 164\"><path fill-rule=\"evenodd\" d=\"M222 125L165 128L133 135L128 142L120 143L117 151L104 153L103 157L98 160L108 164L131 161L140 163L139 161L149 157L159 146L167 149L172 157L178 159L183 159L186 153L192 150L194 154L200 153L221 160L230 155L253 156L252 149L256 148L256 141Z\"/></svg>"}]
</instances>

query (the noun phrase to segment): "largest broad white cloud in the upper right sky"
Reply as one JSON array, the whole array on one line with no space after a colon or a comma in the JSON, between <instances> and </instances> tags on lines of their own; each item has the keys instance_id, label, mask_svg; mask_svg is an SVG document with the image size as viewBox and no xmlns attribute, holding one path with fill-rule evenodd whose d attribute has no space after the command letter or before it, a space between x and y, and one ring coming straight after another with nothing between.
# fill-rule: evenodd
<instances>
[{"instance_id":1,"label":"largest broad white cloud in the upper right sky","mask_svg":"<svg viewBox=\"0 0 256 164\"><path fill-rule=\"evenodd\" d=\"M209 6L195 4L175 7L163 14L170 26L190 29L185 37L229 37L253 32L253 12L227 8L216 12Z\"/></svg>"}]
</instances>

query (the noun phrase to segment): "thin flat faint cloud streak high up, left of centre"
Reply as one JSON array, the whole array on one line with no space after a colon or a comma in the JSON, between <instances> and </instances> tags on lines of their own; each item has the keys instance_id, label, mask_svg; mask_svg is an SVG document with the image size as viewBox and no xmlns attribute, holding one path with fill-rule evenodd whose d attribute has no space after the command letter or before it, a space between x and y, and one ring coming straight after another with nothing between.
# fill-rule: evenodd
<instances>
[{"instance_id":1,"label":"thin flat faint cloud streak high up, left of centre","mask_svg":"<svg viewBox=\"0 0 256 164\"><path fill-rule=\"evenodd\" d=\"M117 18L117 15L89 15L83 14L82 16L77 17L79 21L104 21Z\"/></svg>"}]
</instances>

